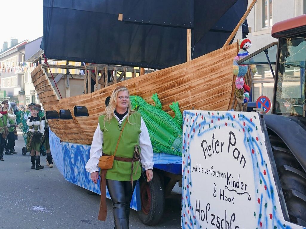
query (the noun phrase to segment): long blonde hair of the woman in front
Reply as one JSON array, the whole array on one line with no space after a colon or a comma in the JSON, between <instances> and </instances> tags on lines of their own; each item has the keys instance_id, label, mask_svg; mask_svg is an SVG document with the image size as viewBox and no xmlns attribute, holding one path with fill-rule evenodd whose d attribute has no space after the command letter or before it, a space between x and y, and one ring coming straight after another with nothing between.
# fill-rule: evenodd
<instances>
[{"instance_id":1,"label":"long blonde hair of the woman in front","mask_svg":"<svg viewBox=\"0 0 306 229\"><path fill-rule=\"evenodd\" d=\"M108 123L110 123L110 120L114 117L114 111L116 110L117 107L117 95L119 91L127 91L129 93L129 90L126 87L120 86L120 87L116 87L115 90L113 91L112 95L110 96L110 102L108 104L108 106L105 108L105 111L102 113L104 115L104 128L105 127L105 122L107 121ZM130 93L129 93L130 95ZM131 101L129 100L129 105L128 105L128 123L134 125L135 123L130 123L129 122L129 116L131 116L133 113L135 113L134 110L132 110L132 105L131 105Z\"/></svg>"}]
</instances>

